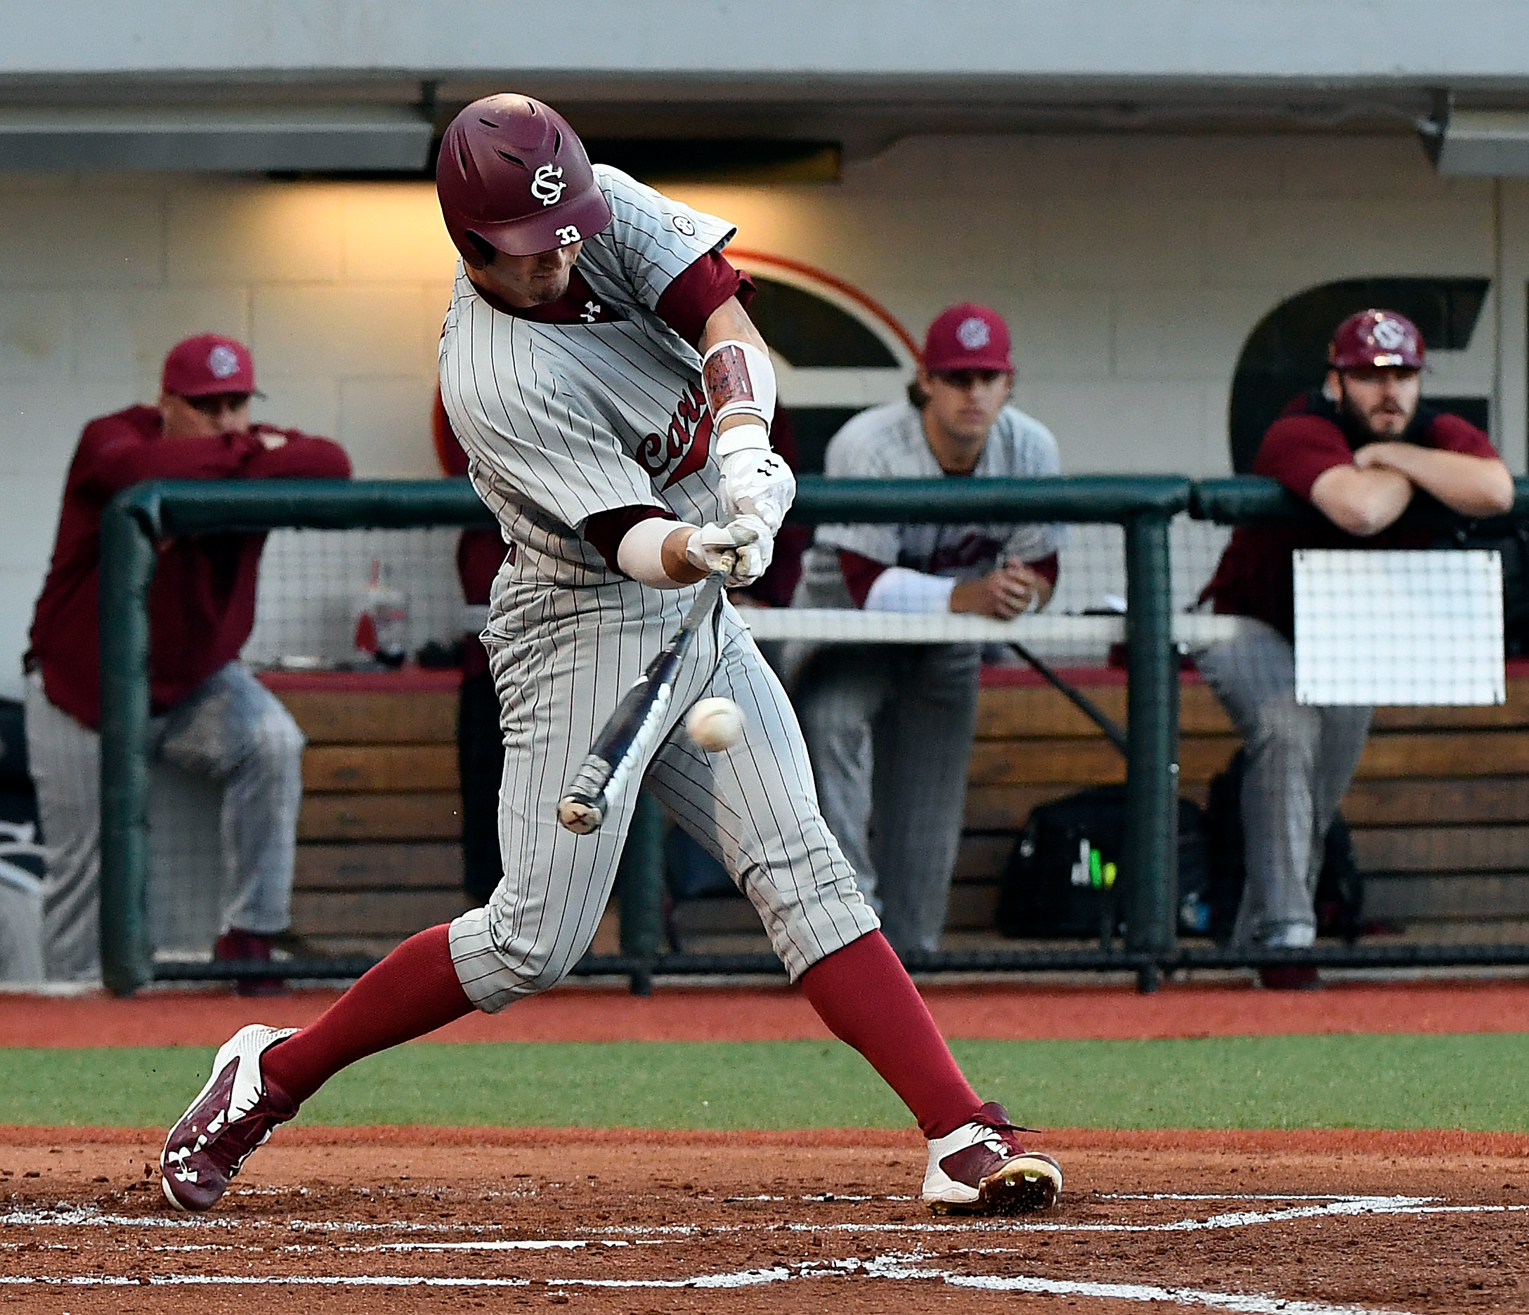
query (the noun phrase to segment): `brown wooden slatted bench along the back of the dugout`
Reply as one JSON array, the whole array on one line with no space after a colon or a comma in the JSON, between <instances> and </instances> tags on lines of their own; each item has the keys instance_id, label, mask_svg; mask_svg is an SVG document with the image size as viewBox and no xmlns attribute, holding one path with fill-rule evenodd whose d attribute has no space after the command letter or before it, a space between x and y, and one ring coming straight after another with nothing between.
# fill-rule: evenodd
<instances>
[{"instance_id":1,"label":"brown wooden slatted bench along the back of the dugout","mask_svg":"<svg viewBox=\"0 0 1529 1315\"><path fill-rule=\"evenodd\" d=\"M1069 673L1125 722L1125 676ZM384 953L445 922L462 896L457 673L268 673L307 734L294 931L324 953ZM1180 780L1205 801L1237 749L1193 673L1180 683ZM1529 664L1495 708L1384 708L1344 798L1372 917L1442 936L1529 934ZM992 934L998 878L1031 810L1121 781L1124 758L1032 671L983 673L950 930ZM743 901L691 910L687 931L758 934ZM1483 930L1485 928L1485 930ZM1431 939L1431 937L1430 937ZM687 946L688 948L688 946Z\"/></svg>"}]
</instances>

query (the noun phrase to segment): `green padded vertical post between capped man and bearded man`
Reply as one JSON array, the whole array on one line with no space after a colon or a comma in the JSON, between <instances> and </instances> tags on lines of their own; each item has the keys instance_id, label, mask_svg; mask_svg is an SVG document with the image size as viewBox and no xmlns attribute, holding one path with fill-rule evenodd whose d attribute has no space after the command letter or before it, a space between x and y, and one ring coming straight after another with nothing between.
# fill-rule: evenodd
<instances>
[{"instance_id":1,"label":"green padded vertical post between capped man and bearded man","mask_svg":"<svg viewBox=\"0 0 1529 1315\"><path fill-rule=\"evenodd\" d=\"M1168 517L1125 523L1125 642L1130 746L1125 757L1127 950L1174 953L1179 885L1179 656L1173 647ZM1161 968L1138 972L1156 991Z\"/></svg>"}]
</instances>

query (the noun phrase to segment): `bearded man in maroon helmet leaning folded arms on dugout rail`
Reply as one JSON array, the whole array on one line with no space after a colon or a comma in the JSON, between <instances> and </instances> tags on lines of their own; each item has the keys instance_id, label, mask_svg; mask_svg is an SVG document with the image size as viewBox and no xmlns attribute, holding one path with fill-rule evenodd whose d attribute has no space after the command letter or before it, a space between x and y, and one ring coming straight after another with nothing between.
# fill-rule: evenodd
<instances>
[{"instance_id":1,"label":"bearded man in maroon helmet leaning folded arms on dugout rail","mask_svg":"<svg viewBox=\"0 0 1529 1315\"><path fill-rule=\"evenodd\" d=\"M1512 508L1514 482L1486 434L1419 404L1423 339L1394 310L1344 320L1321 388L1269 427L1252 472L1271 476L1324 520L1238 526L1203 599L1246 618L1196 665L1243 737L1246 881L1232 942L1303 948L1327 829L1353 780L1370 709L1295 702L1297 549L1428 547L1427 526L1398 520L1419 489L1465 515ZM1264 968L1266 986L1316 985L1312 968Z\"/></svg>"}]
</instances>

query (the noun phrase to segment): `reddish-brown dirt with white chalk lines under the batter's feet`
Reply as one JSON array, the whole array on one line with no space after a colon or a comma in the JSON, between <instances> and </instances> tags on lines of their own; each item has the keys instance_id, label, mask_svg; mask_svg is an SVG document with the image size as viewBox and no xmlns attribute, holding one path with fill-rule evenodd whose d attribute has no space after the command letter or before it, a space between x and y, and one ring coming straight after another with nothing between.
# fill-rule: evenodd
<instances>
[{"instance_id":1,"label":"reddish-brown dirt with white chalk lines under the batter's feet","mask_svg":"<svg viewBox=\"0 0 1529 1315\"><path fill-rule=\"evenodd\" d=\"M1529 1309L1500 1151L1067 1133L1055 1211L971 1220L913 1199L904 1135L295 1128L185 1216L147 1135L6 1132L0 1309Z\"/></svg>"}]
</instances>

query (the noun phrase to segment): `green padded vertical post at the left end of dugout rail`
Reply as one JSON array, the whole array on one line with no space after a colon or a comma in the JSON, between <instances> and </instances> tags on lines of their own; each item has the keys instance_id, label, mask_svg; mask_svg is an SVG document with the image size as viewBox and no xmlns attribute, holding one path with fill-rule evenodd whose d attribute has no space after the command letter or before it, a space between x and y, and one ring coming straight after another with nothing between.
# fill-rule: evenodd
<instances>
[{"instance_id":1,"label":"green padded vertical post at the left end of dugout rail","mask_svg":"<svg viewBox=\"0 0 1529 1315\"><path fill-rule=\"evenodd\" d=\"M101 515L101 976L131 995L154 976L148 943L148 586L157 498Z\"/></svg>"}]
</instances>

